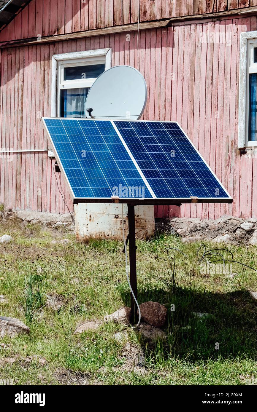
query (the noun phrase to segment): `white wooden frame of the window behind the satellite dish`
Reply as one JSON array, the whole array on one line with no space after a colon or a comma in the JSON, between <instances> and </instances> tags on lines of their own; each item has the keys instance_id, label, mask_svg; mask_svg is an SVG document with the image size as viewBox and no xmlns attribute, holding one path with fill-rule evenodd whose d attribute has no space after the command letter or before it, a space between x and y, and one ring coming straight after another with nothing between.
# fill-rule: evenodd
<instances>
[{"instance_id":1,"label":"white wooden frame of the window behind the satellite dish","mask_svg":"<svg viewBox=\"0 0 257 412\"><path fill-rule=\"evenodd\" d=\"M103 63L105 64L104 70L111 68L111 48L54 54L52 56L51 117L60 116L61 90L91 87L96 80L96 78L64 80L64 68Z\"/></svg>"}]
</instances>

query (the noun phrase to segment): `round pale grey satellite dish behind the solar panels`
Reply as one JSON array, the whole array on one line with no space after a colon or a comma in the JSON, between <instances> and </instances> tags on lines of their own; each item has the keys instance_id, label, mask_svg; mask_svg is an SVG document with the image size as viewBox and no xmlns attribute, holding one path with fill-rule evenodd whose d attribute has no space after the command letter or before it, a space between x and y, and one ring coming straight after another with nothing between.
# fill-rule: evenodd
<instances>
[{"instance_id":1,"label":"round pale grey satellite dish behind the solar panels","mask_svg":"<svg viewBox=\"0 0 257 412\"><path fill-rule=\"evenodd\" d=\"M92 84L86 108L92 117L99 119L137 120L144 112L146 100L143 75L131 66L114 66Z\"/></svg>"}]
</instances>

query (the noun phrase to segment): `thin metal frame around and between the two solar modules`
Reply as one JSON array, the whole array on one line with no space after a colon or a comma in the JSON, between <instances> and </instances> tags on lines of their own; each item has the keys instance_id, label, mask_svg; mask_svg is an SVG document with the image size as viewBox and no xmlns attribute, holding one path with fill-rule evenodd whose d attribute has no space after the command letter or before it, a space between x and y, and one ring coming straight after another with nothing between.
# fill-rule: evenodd
<instances>
[{"instance_id":1,"label":"thin metal frame around and between the two solar modules","mask_svg":"<svg viewBox=\"0 0 257 412\"><path fill-rule=\"evenodd\" d=\"M132 197L130 197L130 198L120 197L120 198L118 198L118 199L113 199L113 198L110 198L110 197L107 197L107 198L104 198L104 197L103 197L103 198L96 198L96 197L88 197L88 198L85 198L85 197L76 197L75 194L74 194L74 192L73 192L73 189L72 189L72 187L71 187L71 184L70 184L70 182L69 182L68 176L66 175L66 172L65 172L65 170L64 170L64 168L63 168L63 166L62 166L62 162L61 162L61 159L60 159L60 157L59 157L59 155L58 155L58 152L57 152L57 150L55 149L55 146L54 146L54 142L53 142L53 140L52 140L52 137L51 137L51 135L50 135L50 133L49 133L49 131L48 131L48 128L47 128L47 126L46 126L46 124L45 124L45 119L54 119L54 118L53 118L53 117L42 117L41 119L42 119L43 127L44 127L44 129L45 129L45 131L46 131L46 133L47 133L47 137L48 137L49 140L50 140L51 149L52 149L52 151L54 152L54 156L55 156L55 158L56 158L56 160L57 160L57 163L58 163L58 165L59 165L59 168L60 168L60 170L61 170L61 173L63 173L64 176L65 176L65 179L66 179L66 182L67 182L67 185L68 185L68 190L69 190L69 192L70 192L70 194L71 194L71 197L73 198L73 204L78 204L78 203L112 203L112 202L117 203L117 202L118 202L118 203L130 203L130 204L134 204L134 205L140 205L140 204L141 204L141 205L157 205L157 204L161 204L161 205L167 204L167 205L170 205L170 204L172 204L172 205L178 205L178 206L179 206L179 205L182 204L182 203L232 203L232 202L233 202L232 197L229 195L229 193L228 193L227 190L225 189L224 185L222 185L222 183L220 182L220 180L217 178L217 176L216 176L215 173L212 171L212 169L211 169L210 166L207 164L207 162L205 161L205 159L203 158L203 156L200 154L200 152L197 150L197 148L193 145L192 141L191 141L191 140L189 139L189 137L186 135L186 133L184 132L184 130L182 129L182 127L179 125L179 123L176 122L176 121L161 121L161 120L147 120L147 121L145 120L144 122L149 122L149 123L150 123L150 122L154 122L154 123L160 122L160 123L175 123L175 124L177 124L178 128L181 129L181 131L184 133L184 136L187 138L187 140L189 141L190 145L192 145L192 147L196 150L196 152L198 153L198 155L200 156L200 158L202 159L202 161L204 162L204 164L207 166L207 169L212 173L212 176L215 178L215 180L217 180L217 182L218 182L219 185L222 187L222 189L224 190L224 192L227 194L228 197L224 197L224 198L217 198L217 197L215 197L215 198L214 198L214 197L213 197L213 198L210 198L210 197L209 197L209 198L197 198L197 199L192 198L192 197L191 197L191 198L190 198L190 197L184 197L184 198L171 198L171 197L169 197L169 198L160 198L160 197L156 198L156 197L153 197L153 198L144 198L144 199L142 199L142 198L132 198ZM67 118L67 117L59 117L58 119L67 120L68 118ZM139 168L136 160L134 159L134 156L132 155L131 151L129 150L127 144L125 143L125 140L123 139L121 133L119 132L116 124L114 123L115 121L119 121L120 119L91 119L91 118L87 118L87 119L83 118L83 119L82 119L82 118L72 118L72 120L78 120L78 121L81 121L81 120L89 120L89 121L97 120L97 121L101 121L101 122L111 122L114 130L115 130L116 133L118 134L121 142L123 143L124 147L126 148L127 152L129 153L132 162L135 164L135 166L137 167L138 171L141 172L141 170L140 170L140 168ZM124 122L124 121L126 121L126 120L123 119L122 121ZM142 122L142 121L136 120L136 119L127 119L127 121L129 121L129 122ZM146 183L148 183L148 182L147 182L147 179L145 178L145 176L144 176L144 174L143 174L142 172L140 173L140 175L141 175L141 177L143 178L143 180L144 180ZM143 176L142 176L142 175L143 175ZM147 188L148 188L148 187L150 187L149 183L148 183L148 185L147 185Z\"/></svg>"}]
</instances>

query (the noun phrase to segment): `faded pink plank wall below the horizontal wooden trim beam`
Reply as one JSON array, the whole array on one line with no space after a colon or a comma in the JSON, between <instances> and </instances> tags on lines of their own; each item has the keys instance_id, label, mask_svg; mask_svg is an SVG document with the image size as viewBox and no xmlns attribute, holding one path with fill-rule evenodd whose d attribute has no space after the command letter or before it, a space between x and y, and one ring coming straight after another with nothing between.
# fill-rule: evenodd
<instances>
[{"instance_id":1,"label":"faded pink plank wall below the horizontal wooden trim beam","mask_svg":"<svg viewBox=\"0 0 257 412\"><path fill-rule=\"evenodd\" d=\"M149 99L144 119L177 120L234 199L233 205L183 205L171 215L219 218L257 217L256 159L237 147L239 34L255 30L256 17L192 24L136 33L17 47L1 56L1 147L47 148L39 117L50 116L52 55L111 47L113 65L138 66ZM201 33L232 33L231 43L200 42ZM47 153L14 154L1 159L0 203L12 210L67 212ZM64 181L58 177L72 209ZM156 208L156 217L168 213Z\"/></svg>"}]
</instances>

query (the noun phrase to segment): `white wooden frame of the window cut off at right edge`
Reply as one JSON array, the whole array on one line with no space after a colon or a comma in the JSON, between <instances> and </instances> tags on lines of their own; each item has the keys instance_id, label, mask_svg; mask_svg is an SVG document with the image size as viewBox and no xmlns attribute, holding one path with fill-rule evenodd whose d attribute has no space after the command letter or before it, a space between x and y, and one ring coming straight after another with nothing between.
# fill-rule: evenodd
<instances>
[{"instance_id":1,"label":"white wooden frame of the window cut off at right edge","mask_svg":"<svg viewBox=\"0 0 257 412\"><path fill-rule=\"evenodd\" d=\"M249 127L249 74L257 73L253 62L254 47L257 47L257 31L240 33L239 100L238 100L238 148L255 149L257 141L248 140Z\"/></svg>"}]
</instances>

